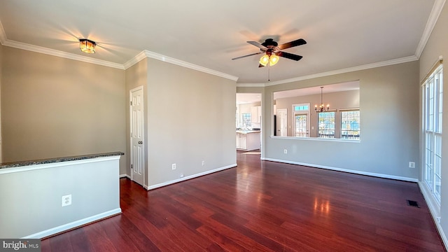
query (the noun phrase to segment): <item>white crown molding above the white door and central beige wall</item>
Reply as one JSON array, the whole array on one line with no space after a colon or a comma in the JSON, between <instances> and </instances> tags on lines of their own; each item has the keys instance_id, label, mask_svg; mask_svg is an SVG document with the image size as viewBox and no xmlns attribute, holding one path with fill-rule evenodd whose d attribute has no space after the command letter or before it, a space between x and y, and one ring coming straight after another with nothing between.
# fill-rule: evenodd
<instances>
[{"instance_id":1,"label":"white crown molding above the white door and central beige wall","mask_svg":"<svg viewBox=\"0 0 448 252\"><path fill-rule=\"evenodd\" d=\"M138 55L136 55L135 57L133 57L132 59L127 61L124 64L125 69L128 69L131 66L133 66L134 64L137 64L137 62L139 62L141 59L144 59L145 57L149 57L151 59L158 59L158 60L161 60L162 62L168 62L168 63L171 63L171 64L176 64L178 66L183 66L183 67L186 67L188 69L193 69L193 70L196 70L196 71L202 71L204 73L209 73L209 74L212 74L214 76L227 78L229 80L235 80L235 81L238 80L237 76L231 76L230 74L227 74L227 73L222 73L220 71L215 71L215 70L212 70L212 69L208 69L208 68L205 68L203 66L198 66L196 64L191 64L191 63L188 63L188 62L184 62L184 61L182 61L180 59L174 59L172 57L161 55L161 54L158 54L156 52L151 52L151 51L148 51L148 50L143 50Z\"/></svg>"}]
</instances>

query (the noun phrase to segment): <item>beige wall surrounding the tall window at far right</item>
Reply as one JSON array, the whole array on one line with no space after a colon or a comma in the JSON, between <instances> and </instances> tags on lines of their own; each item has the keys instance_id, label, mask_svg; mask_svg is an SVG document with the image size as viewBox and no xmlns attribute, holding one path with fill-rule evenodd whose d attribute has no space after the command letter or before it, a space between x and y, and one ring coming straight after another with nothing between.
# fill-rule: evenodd
<instances>
[{"instance_id":1,"label":"beige wall surrounding the tall window at far right","mask_svg":"<svg viewBox=\"0 0 448 252\"><path fill-rule=\"evenodd\" d=\"M448 61L448 4L445 3L440 13L437 24L435 25L433 32L428 39L428 43L423 50L420 57L420 80L422 80L426 74L429 73L433 64L437 61L438 57L442 55L444 62ZM447 73L447 64L444 63L444 73ZM443 76L446 76L444 74ZM440 226L442 232L444 233L445 246L448 246L448 134L445 129L448 128L448 116L446 111L448 111L448 95L445 90L447 90L448 78L444 77L444 95L443 95L443 129L442 134L442 188L441 188L441 202L440 202ZM416 99L419 102L420 99ZM423 142L423 137L421 136L421 142ZM422 146L421 144L420 146ZM423 148L420 152L423 153ZM420 179L423 181L423 173L420 174Z\"/></svg>"}]
</instances>

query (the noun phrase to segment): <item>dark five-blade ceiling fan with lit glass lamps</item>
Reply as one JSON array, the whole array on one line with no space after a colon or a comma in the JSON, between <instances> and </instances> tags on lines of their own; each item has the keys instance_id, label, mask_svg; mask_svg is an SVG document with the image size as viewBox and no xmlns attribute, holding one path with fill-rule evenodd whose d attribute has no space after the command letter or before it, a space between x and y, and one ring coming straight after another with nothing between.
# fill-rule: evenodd
<instances>
[{"instance_id":1,"label":"dark five-blade ceiling fan with lit glass lamps","mask_svg":"<svg viewBox=\"0 0 448 252\"><path fill-rule=\"evenodd\" d=\"M288 43L283 43L283 44L279 45L279 43L276 43L276 41L274 41L274 39L267 38L266 41L263 43L258 43L257 41L247 41L247 43L250 43L251 45L255 45L256 47L260 48L261 52L255 52L250 55L236 57L236 58L233 58L232 60L241 59L244 57L249 57L252 55L259 55L261 53L265 53L265 55L263 55L260 58L260 65L258 66L258 67L262 67L262 66L266 66L267 64L269 64L269 66L274 66L274 64L279 62L279 57L286 57L286 59L293 59L295 61L302 59L302 56L300 56L300 55L295 55L295 54L292 54L289 52L282 52L281 50L286 49L286 48L292 48L297 45L304 45L307 43L307 41L304 41L304 39L299 38L295 41L290 41Z\"/></svg>"}]
</instances>

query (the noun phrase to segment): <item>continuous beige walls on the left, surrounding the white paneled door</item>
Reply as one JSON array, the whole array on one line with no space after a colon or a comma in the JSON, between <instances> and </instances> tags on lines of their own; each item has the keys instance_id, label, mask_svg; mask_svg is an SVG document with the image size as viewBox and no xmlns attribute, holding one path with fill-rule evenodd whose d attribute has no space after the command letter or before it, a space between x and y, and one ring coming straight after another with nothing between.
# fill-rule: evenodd
<instances>
[{"instance_id":1,"label":"continuous beige walls on the left, surrounding the white paneled door","mask_svg":"<svg viewBox=\"0 0 448 252\"><path fill-rule=\"evenodd\" d=\"M234 80L156 59L123 71L8 47L2 56L5 162L123 151L130 174L129 91L143 85L145 186L236 164Z\"/></svg>"}]
</instances>

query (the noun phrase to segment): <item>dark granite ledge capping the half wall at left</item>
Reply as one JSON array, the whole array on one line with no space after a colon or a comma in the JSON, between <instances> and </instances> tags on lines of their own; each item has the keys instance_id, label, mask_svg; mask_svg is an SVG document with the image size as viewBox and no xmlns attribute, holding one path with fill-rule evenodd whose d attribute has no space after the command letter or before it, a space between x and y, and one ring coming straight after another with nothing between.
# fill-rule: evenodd
<instances>
[{"instance_id":1,"label":"dark granite ledge capping the half wall at left","mask_svg":"<svg viewBox=\"0 0 448 252\"><path fill-rule=\"evenodd\" d=\"M125 153L117 151L117 152L111 152L111 153L77 155L77 156L62 157L62 158L48 158L48 159L43 159L43 160L4 162L4 163L0 163L0 169L23 167L23 166L29 166L29 165L43 165L43 164L50 164L50 163L55 163L55 162L67 162L67 161L74 161L74 160L87 160L87 159L91 159L91 158L104 158L104 157L111 157L111 156L115 156L115 155L125 155Z\"/></svg>"}]
</instances>

